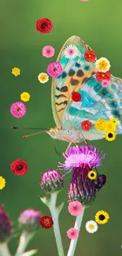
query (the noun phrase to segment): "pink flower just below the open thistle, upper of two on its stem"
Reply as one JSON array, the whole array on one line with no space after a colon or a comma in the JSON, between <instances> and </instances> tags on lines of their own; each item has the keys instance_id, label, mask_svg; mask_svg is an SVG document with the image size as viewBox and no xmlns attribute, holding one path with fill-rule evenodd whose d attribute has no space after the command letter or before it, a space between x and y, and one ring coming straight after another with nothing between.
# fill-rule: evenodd
<instances>
[{"instance_id":1,"label":"pink flower just below the open thistle, upper of two on its stem","mask_svg":"<svg viewBox=\"0 0 122 256\"><path fill-rule=\"evenodd\" d=\"M79 202L79 201L69 202L68 212L72 216L78 216L82 212L82 210L83 210L83 206L82 206L81 202Z\"/></svg>"}]
</instances>

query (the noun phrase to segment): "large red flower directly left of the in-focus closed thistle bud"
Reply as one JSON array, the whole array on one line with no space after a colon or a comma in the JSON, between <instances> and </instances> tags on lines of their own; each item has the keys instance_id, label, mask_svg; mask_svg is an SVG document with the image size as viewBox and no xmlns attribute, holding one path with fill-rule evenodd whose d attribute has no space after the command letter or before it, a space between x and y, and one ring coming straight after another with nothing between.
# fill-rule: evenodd
<instances>
[{"instance_id":1,"label":"large red flower directly left of the in-focus closed thistle bud","mask_svg":"<svg viewBox=\"0 0 122 256\"><path fill-rule=\"evenodd\" d=\"M23 161L20 159L16 159L15 161L13 161L10 167L13 174L20 175L20 176L27 173L27 170L28 170L28 164L26 163L26 161Z\"/></svg>"}]
</instances>

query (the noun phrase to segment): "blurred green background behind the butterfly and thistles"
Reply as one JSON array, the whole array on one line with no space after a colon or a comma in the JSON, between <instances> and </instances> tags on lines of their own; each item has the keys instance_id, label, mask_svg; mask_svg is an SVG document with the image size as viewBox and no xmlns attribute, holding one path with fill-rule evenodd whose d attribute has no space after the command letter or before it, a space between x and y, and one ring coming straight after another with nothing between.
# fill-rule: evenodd
<instances>
[{"instance_id":1,"label":"blurred green background behind the butterfly and thistles","mask_svg":"<svg viewBox=\"0 0 122 256\"><path fill-rule=\"evenodd\" d=\"M28 131L11 130L11 126L20 127L54 127L50 103L51 80L39 83L39 72L46 72L46 67L55 61L61 46L72 35L79 35L97 54L108 58L114 76L121 76L122 59L122 1L117 0L4 0L0 3L0 90L1 90L1 170L6 178L6 187L0 191L0 203L6 207L10 219L17 224L20 212L27 208L41 210L50 215L49 210L39 200L45 193L39 186L41 173L47 169L56 169L57 162L62 161L57 151L63 152L67 143L54 141L48 135L35 135L23 139ZM54 23L50 34L40 34L35 24L39 18L47 17ZM51 45L56 49L54 58L42 56L43 46ZM11 69L18 67L20 76L13 76ZM28 91L31 99L27 102L28 112L20 119L9 113L13 102L20 100L20 94ZM24 133L25 132L25 133ZM30 132L31 133L31 132ZM99 192L94 204L86 210L83 226L79 235L76 256L120 256L122 249L122 135L114 142L105 140L94 142L106 154L100 173L105 173L107 183ZM14 176L10 163L20 158L28 162L29 169L25 176ZM75 217L69 215L67 207L67 187L71 174L65 176L65 188L59 195L58 202L65 200L61 212L60 224L65 252L69 239L66 230L74 224ZM98 210L106 210L110 219L108 224L99 226L93 235L85 230L85 223L94 220ZM12 253L17 248L18 239L9 243ZM53 228L39 229L28 249L39 248L37 256L57 256ZM5 255L6 256L6 255Z\"/></svg>"}]
</instances>

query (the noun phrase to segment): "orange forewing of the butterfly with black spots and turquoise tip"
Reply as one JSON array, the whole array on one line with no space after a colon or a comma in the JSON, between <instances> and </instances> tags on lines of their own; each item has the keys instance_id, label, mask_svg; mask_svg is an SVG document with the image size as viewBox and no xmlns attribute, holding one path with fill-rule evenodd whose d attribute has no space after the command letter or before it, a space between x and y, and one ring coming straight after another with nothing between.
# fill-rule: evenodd
<instances>
[{"instance_id":1,"label":"orange forewing of the butterfly with black spots and turquoise tip","mask_svg":"<svg viewBox=\"0 0 122 256\"><path fill-rule=\"evenodd\" d=\"M64 50L68 45L77 47L79 54L75 59L65 57ZM51 91L54 121L58 128L63 128L64 126L62 117L71 100L72 92L78 91L83 81L87 80L95 72L95 61L87 62L83 57L87 50L91 50L90 47L82 39L74 35L65 42L58 54L57 62L61 64L63 72L61 76L53 78ZM65 123L65 125L67 124Z\"/></svg>"}]
</instances>

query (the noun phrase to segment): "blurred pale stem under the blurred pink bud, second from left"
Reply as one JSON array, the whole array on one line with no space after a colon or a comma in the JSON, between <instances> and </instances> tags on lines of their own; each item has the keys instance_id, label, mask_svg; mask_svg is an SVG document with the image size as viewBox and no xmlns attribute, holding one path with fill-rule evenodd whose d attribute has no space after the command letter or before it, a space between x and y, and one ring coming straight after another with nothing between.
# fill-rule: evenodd
<instances>
[{"instance_id":1,"label":"blurred pale stem under the blurred pink bud, second from left","mask_svg":"<svg viewBox=\"0 0 122 256\"><path fill-rule=\"evenodd\" d=\"M19 246L17 248L17 252L16 252L15 256L20 256L21 254L24 253L24 250L28 246L28 243L32 239L33 236L34 236L34 233L23 232L21 234Z\"/></svg>"}]
</instances>

